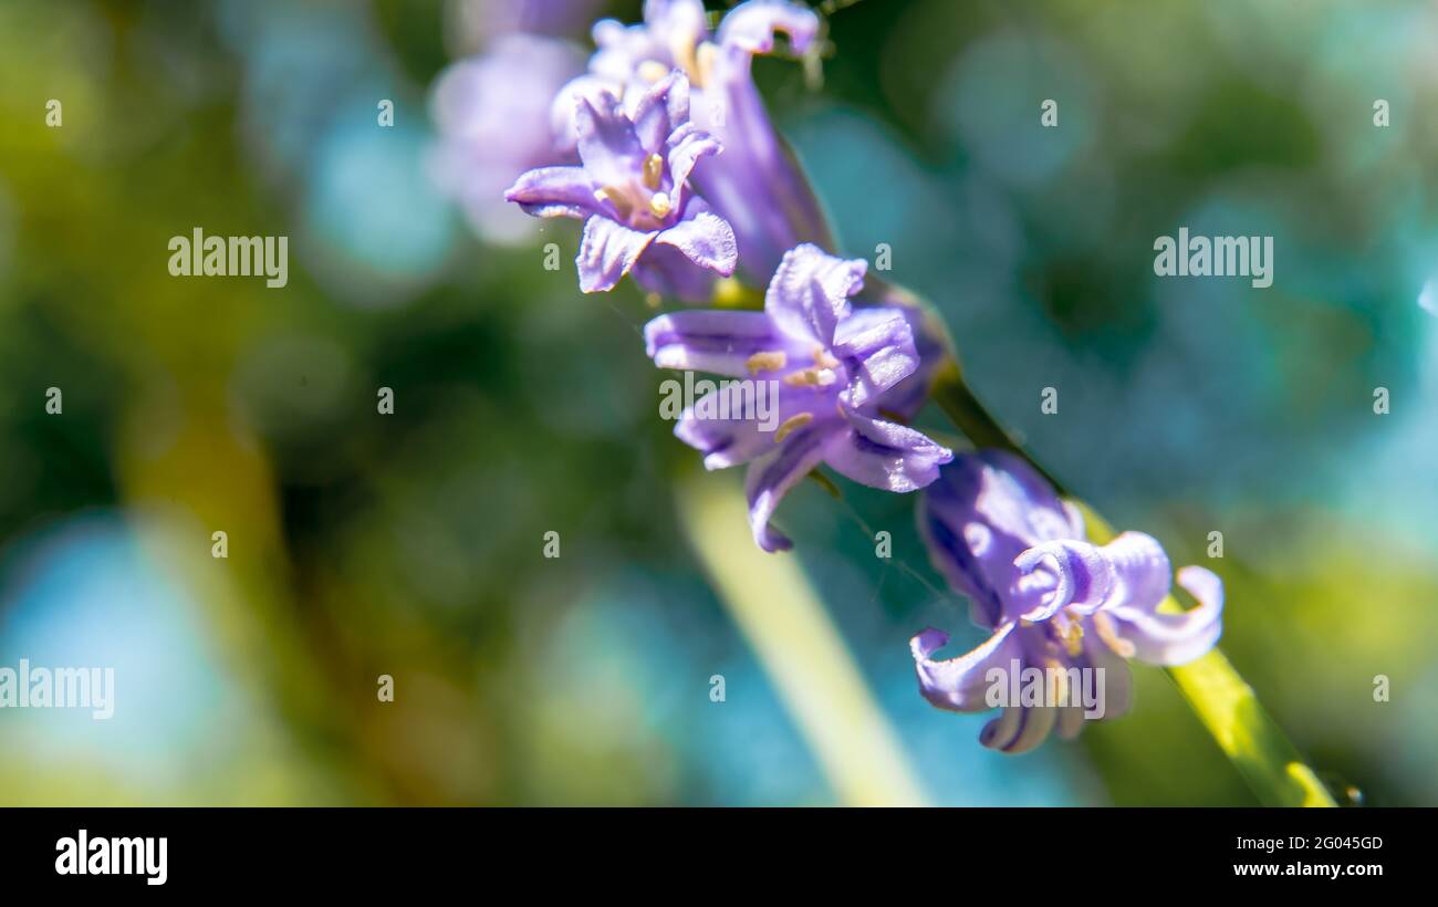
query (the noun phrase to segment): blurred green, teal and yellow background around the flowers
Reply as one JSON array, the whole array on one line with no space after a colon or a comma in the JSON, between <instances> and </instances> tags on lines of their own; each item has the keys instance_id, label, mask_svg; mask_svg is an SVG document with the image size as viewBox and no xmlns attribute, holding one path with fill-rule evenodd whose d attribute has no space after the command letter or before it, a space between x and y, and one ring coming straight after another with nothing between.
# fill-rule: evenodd
<instances>
[{"instance_id":1,"label":"blurred green, teal and yellow background around the flowers","mask_svg":"<svg viewBox=\"0 0 1438 907\"><path fill-rule=\"evenodd\" d=\"M585 52L638 17L549 6ZM429 177L430 85L493 40L469 13L0 4L0 664L116 670L109 722L0 710L0 802L843 802L679 526L651 310L578 292L572 224L486 243ZM1340 799L1438 805L1438 7L828 22L821 80L756 76L841 252L889 243L1035 456L1225 579L1224 651ZM289 286L171 277L197 226L289 236ZM1156 279L1179 226L1274 236L1274 286ZM1140 666L1126 719L982 749L917 696L913 632L982 637L913 499L843 490L779 525L930 802L1255 802Z\"/></svg>"}]
</instances>

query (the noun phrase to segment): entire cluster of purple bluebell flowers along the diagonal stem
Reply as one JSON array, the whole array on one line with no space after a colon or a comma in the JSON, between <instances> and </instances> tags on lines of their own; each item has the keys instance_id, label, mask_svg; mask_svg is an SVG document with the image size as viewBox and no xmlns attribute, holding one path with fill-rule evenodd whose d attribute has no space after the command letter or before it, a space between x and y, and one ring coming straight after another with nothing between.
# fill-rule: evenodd
<instances>
[{"instance_id":1,"label":"entire cluster of purple bluebell flowers along the diagonal stem","mask_svg":"<svg viewBox=\"0 0 1438 907\"><path fill-rule=\"evenodd\" d=\"M1201 607L1159 611L1171 578L1156 540L1125 533L1091 545L1077 510L1017 457L955 459L905 424L945 348L902 290L866 289L866 263L833 254L818 201L751 73L778 34L804 53L818 32L814 11L787 0L742 3L713 32L700 0L647 0L640 24L594 26L597 50L582 72L569 52L515 37L443 76L436 116L446 160L463 172L482 158L485 197L464 195L480 210L499 195L492 174L503 170L506 201L535 217L582 220L584 292L626 276L683 302L712 299L720 277L765 287L762 310L680 309L646 326L654 365L738 379L695 401L674 434L707 469L748 466L749 523L766 552L792 546L771 520L820 464L870 487L928 489L920 526L932 559L992 632L949 661L932 658L945 634L915 637L920 690L933 704L991 707L988 673L1012 664L1103 668L1113 674L1106 714L1122 713L1125 660L1176 664L1206 651L1219 634L1222 586L1186 568L1178 581ZM485 103L505 72L516 91ZM772 382L774 423L738 405L746 381ZM982 742L1022 752L1055 726L1077 733L1083 719L1074 706L1011 704Z\"/></svg>"}]
</instances>

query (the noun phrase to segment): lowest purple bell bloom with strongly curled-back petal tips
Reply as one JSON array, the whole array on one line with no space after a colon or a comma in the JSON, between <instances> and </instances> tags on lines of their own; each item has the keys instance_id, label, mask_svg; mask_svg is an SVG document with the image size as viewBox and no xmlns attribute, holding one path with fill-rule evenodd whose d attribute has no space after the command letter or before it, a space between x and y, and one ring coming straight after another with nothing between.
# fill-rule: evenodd
<instances>
[{"instance_id":1,"label":"lowest purple bell bloom with strongly curled-back petal tips","mask_svg":"<svg viewBox=\"0 0 1438 907\"><path fill-rule=\"evenodd\" d=\"M1051 730L1067 739L1086 717L1123 714L1132 696L1127 658L1183 664L1222 632L1218 576L1199 566L1181 569L1178 584L1199 605L1159 611L1172 574L1159 543L1139 532L1107 545L1084 540L1080 512L1014 454L956 457L925 492L919 528L933 565L969 597L971 620L992 631L974 651L945 661L933 660L948 643L945 632L916 635L919 689L940 709L1002 707L979 736L991 749L1027 752ZM1008 696L1027 686L1015 671L1043 677L1031 690L1048 696ZM1102 701L1078 701L1076 684L1087 684Z\"/></svg>"}]
</instances>

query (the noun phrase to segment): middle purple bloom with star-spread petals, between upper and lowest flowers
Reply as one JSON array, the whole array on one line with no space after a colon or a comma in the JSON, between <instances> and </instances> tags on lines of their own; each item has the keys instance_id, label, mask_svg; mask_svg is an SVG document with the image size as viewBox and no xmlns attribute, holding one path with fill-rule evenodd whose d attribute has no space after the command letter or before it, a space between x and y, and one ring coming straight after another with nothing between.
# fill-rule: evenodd
<instances>
[{"instance_id":1,"label":"middle purple bloom with star-spread petals, between upper and lowest flowers","mask_svg":"<svg viewBox=\"0 0 1438 907\"><path fill-rule=\"evenodd\" d=\"M779 263L762 312L674 312L644 328L660 368L736 379L693 401L674 434L707 469L749 464L749 523L765 551L791 546L769 517L820 463L876 489L913 492L953 457L880 415L919 355L902 312L851 306L864 272L861 260L798 246ZM754 398L774 402L771 420L741 405Z\"/></svg>"}]
</instances>

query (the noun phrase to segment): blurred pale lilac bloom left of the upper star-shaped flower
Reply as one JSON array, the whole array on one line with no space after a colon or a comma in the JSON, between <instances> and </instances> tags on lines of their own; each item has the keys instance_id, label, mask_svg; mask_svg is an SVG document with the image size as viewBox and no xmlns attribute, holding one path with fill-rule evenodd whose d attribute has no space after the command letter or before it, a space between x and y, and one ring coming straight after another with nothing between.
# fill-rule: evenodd
<instances>
[{"instance_id":1,"label":"blurred pale lilac bloom left of the upper star-shaped flower","mask_svg":"<svg viewBox=\"0 0 1438 907\"><path fill-rule=\"evenodd\" d=\"M555 142L549 102L582 69L582 56L565 42L505 34L440 73L430 99L439 132L430 170L486 239L515 243L533 234L532 221L503 198L516 174L577 160L572 147Z\"/></svg>"}]
</instances>

